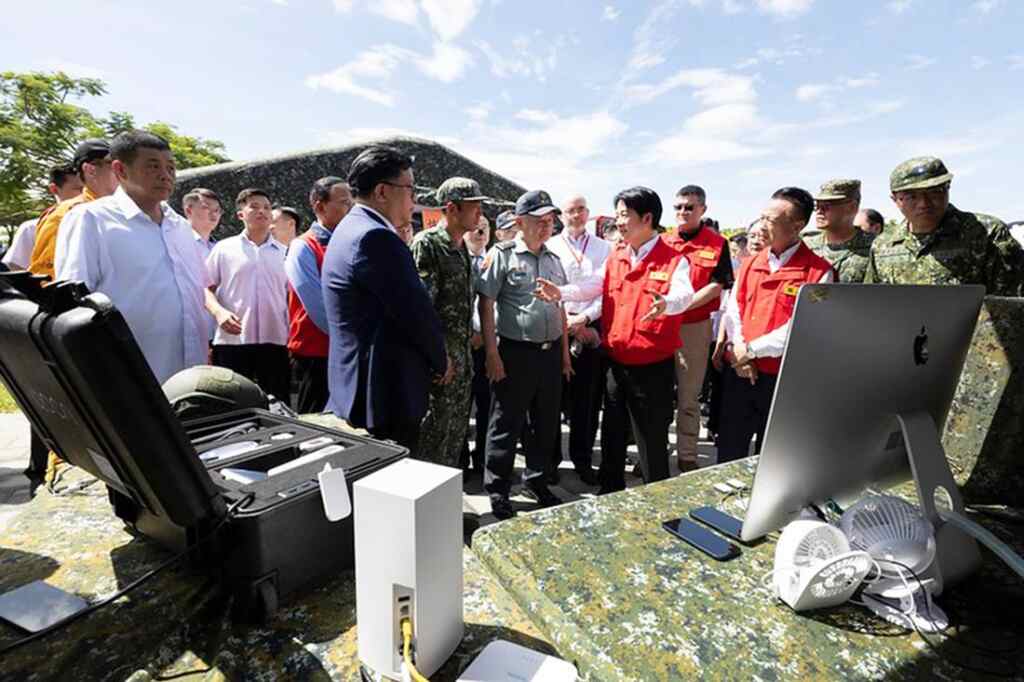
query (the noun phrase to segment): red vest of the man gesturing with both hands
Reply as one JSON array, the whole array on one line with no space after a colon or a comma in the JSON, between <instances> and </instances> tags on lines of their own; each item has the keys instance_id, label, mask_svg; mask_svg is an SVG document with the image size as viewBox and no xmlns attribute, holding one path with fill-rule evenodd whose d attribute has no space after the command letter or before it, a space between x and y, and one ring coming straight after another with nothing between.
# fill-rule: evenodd
<instances>
[{"instance_id":1,"label":"red vest of the man gesturing with both hands","mask_svg":"<svg viewBox=\"0 0 1024 682\"><path fill-rule=\"evenodd\" d=\"M679 349L682 315L641 322L654 304L651 293L666 296L672 273L683 254L660 238L634 268L630 249L618 244L604 266L601 336L611 359L622 365L649 365L672 357Z\"/></svg>"}]
</instances>

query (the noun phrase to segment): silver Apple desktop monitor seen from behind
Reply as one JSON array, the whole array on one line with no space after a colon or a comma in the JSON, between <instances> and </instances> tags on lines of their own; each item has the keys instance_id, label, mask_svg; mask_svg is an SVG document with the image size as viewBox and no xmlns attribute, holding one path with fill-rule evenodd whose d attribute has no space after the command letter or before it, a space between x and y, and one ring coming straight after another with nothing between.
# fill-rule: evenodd
<instances>
[{"instance_id":1,"label":"silver Apple desktop monitor seen from behind","mask_svg":"<svg viewBox=\"0 0 1024 682\"><path fill-rule=\"evenodd\" d=\"M937 487L945 489L941 504L963 511L939 434L984 295L981 286L801 288L744 540L781 528L810 505L843 506L868 487L911 478L936 526ZM937 543L943 534L955 535L937 527ZM970 554L950 541L940 561L955 563L944 555L956 551ZM950 563L944 572L954 579L967 569Z\"/></svg>"}]
</instances>

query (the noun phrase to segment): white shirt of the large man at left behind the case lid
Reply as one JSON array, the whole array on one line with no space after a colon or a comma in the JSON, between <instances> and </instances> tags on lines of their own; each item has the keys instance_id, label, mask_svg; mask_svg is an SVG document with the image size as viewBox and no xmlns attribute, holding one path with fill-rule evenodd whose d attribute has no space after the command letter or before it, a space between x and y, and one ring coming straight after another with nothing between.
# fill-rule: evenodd
<instances>
[{"instance_id":1,"label":"white shirt of the large man at left behind the case lid","mask_svg":"<svg viewBox=\"0 0 1024 682\"><path fill-rule=\"evenodd\" d=\"M158 225L123 188L75 207L57 229L56 280L105 294L163 383L207 361L209 278L191 225L167 204Z\"/></svg>"}]
</instances>

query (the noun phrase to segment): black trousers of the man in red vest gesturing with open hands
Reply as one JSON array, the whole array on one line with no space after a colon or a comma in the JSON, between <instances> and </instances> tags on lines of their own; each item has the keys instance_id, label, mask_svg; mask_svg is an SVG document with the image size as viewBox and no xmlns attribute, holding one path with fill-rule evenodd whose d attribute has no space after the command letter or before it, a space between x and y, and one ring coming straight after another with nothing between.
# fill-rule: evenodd
<instances>
[{"instance_id":1,"label":"black trousers of the man in red vest gesturing with open hands","mask_svg":"<svg viewBox=\"0 0 1024 682\"><path fill-rule=\"evenodd\" d=\"M605 493L626 488L626 440L633 428L644 482L669 477L669 426L675 414L676 366L673 357L650 365L607 360L601 468Z\"/></svg>"}]
</instances>

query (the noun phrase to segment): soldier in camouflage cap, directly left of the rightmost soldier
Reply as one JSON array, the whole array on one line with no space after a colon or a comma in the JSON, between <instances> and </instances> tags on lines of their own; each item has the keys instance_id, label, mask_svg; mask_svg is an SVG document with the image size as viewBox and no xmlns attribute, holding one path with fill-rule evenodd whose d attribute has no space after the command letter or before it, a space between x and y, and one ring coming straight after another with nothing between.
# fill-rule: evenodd
<instances>
[{"instance_id":1,"label":"soldier in camouflage cap, directly left of the rightmost soldier","mask_svg":"<svg viewBox=\"0 0 1024 682\"><path fill-rule=\"evenodd\" d=\"M814 197L814 220L821 231L804 243L831 263L837 282L860 284L867 271L873 240L853 224L859 209L860 180L828 180Z\"/></svg>"}]
</instances>

